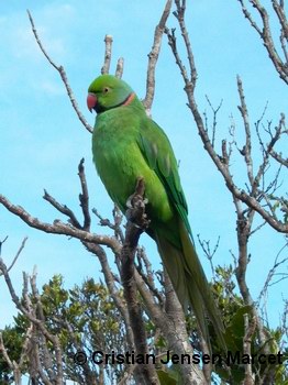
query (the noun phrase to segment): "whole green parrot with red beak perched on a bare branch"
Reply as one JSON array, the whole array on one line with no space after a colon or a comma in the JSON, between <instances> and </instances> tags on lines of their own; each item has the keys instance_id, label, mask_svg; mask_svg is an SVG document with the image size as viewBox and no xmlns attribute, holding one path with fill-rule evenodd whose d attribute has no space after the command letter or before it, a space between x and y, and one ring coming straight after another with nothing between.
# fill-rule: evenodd
<instances>
[{"instance_id":1,"label":"whole green parrot with red beak perched on a bare branch","mask_svg":"<svg viewBox=\"0 0 288 385\"><path fill-rule=\"evenodd\" d=\"M136 180L145 184L146 230L184 308L190 305L210 346L206 312L225 346L223 324L195 250L177 162L165 132L123 80L102 75L88 89L87 106L97 112L92 153L97 172L111 199L126 210Z\"/></svg>"}]
</instances>

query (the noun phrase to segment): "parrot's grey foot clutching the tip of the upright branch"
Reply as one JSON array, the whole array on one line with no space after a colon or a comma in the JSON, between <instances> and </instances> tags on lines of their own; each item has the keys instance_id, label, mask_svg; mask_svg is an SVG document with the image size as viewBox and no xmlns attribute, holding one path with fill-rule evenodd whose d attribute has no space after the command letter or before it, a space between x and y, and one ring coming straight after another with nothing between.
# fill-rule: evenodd
<instances>
[{"instance_id":1,"label":"parrot's grey foot clutching the tip of the upright branch","mask_svg":"<svg viewBox=\"0 0 288 385\"><path fill-rule=\"evenodd\" d=\"M128 210L125 212L126 219L131 221L136 228L147 229L149 220L145 213L145 205L148 202L147 198L144 198L144 179L139 178L135 193L132 194L126 200Z\"/></svg>"}]
</instances>

